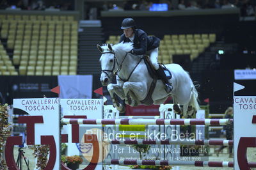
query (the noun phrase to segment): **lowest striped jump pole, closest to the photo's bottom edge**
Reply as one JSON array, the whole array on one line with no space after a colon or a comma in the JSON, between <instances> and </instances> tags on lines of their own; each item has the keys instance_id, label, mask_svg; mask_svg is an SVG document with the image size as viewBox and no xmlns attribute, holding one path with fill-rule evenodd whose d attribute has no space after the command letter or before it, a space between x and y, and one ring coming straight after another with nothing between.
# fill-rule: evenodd
<instances>
[{"instance_id":1,"label":"lowest striped jump pole, closest to the photo's bottom edge","mask_svg":"<svg viewBox=\"0 0 256 170\"><path fill-rule=\"evenodd\" d=\"M106 159L105 164L112 165L147 165L147 166L196 166L196 167L234 167L234 162L226 161L168 161L168 160L118 160ZM256 162L248 162L249 167L256 167Z\"/></svg>"}]
</instances>

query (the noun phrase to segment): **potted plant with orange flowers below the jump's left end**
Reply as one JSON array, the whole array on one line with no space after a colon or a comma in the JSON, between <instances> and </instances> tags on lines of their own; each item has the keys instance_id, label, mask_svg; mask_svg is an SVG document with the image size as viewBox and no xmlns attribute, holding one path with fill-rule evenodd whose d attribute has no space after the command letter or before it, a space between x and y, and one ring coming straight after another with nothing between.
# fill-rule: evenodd
<instances>
[{"instance_id":1,"label":"potted plant with orange flowers below the jump's left end","mask_svg":"<svg viewBox=\"0 0 256 170\"><path fill-rule=\"evenodd\" d=\"M63 163L67 164L67 167L69 167L72 170L76 170L79 168L79 164L83 162L83 159L79 157L78 155L74 156L61 156L61 160Z\"/></svg>"}]
</instances>

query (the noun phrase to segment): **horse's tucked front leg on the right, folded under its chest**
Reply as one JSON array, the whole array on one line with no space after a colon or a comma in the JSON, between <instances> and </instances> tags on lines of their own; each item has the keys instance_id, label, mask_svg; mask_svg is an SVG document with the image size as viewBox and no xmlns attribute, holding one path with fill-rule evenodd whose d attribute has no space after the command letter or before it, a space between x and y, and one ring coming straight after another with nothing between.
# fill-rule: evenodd
<instances>
[{"instance_id":1,"label":"horse's tucked front leg on the right, folded under its chest","mask_svg":"<svg viewBox=\"0 0 256 170\"><path fill-rule=\"evenodd\" d=\"M137 106L140 104L140 99L147 95L147 84L142 82L125 82L124 86L125 104Z\"/></svg>"}]
</instances>

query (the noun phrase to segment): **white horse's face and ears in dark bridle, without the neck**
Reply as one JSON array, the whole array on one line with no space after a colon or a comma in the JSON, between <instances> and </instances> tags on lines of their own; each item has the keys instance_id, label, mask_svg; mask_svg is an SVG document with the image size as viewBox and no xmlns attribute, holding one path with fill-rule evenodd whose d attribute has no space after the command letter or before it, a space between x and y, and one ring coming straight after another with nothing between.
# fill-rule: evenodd
<instances>
[{"instance_id":1,"label":"white horse's face and ears in dark bridle, without the neck","mask_svg":"<svg viewBox=\"0 0 256 170\"><path fill-rule=\"evenodd\" d=\"M100 75L100 81L102 83L102 86L108 86L108 84L111 82L115 67L116 67L116 58L115 58L115 52L112 49L111 45L97 45L97 48L102 53L100 57L100 65L101 65L101 75Z\"/></svg>"}]
</instances>

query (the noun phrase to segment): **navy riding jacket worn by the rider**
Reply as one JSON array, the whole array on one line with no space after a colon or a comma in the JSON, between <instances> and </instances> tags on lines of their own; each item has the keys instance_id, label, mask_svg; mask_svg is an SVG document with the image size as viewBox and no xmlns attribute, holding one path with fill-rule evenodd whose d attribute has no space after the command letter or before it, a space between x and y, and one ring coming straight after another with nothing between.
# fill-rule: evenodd
<instances>
[{"instance_id":1,"label":"navy riding jacket worn by the rider","mask_svg":"<svg viewBox=\"0 0 256 170\"><path fill-rule=\"evenodd\" d=\"M122 34L119 42L131 42L131 40ZM146 54L148 50L159 47L160 40L156 36L147 36L147 33L141 29L135 29L133 43L133 54L143 55Z\"/></svg>"}]
</instances>

